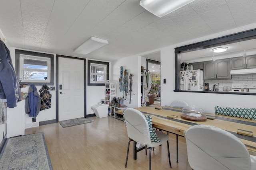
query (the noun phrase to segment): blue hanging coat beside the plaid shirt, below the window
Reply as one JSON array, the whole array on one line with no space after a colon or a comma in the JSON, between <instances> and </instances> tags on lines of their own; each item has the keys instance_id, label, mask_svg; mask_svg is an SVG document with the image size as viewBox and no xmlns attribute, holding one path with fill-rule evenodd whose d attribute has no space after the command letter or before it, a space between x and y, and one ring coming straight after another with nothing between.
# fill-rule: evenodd
<instances>
[{"instance_id":1,"label":"blue hanging coat beside the plaid shirt, below the window","mask_svg":"<svg viewBox=\"0 0 256 170\"><path fill-rule=\"evenodd\" d=\"M41 107L41 98L37 92L36 86L32 84L28 89L28 97L26 98L26 113L29 117L38 115Z\"/></svg>"}]
</instances>

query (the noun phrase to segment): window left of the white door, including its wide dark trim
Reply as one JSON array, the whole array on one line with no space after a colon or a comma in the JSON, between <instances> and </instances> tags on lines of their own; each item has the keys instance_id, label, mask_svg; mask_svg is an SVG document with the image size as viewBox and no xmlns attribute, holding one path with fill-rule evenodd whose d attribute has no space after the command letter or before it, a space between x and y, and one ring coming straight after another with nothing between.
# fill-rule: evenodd
<instances>
[{"instance_id":1,"label":"window left of the white door, including its wide dark trim","mask_svg":"<svg viewBox=\"0 0 256 170\"><path fill-rule=\"evenodd\" d=\"M54 55L15 50L16 75L28 85L54 85Z\"/></svg>"}]
</instances>

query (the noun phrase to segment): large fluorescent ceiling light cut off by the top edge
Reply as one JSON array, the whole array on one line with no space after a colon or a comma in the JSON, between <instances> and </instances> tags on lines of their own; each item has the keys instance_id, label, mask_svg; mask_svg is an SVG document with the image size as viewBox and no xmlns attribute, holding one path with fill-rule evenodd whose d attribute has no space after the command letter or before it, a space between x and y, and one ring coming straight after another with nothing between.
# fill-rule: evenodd
<instances>
[{"instance_id":1,"label":"large fluorescent ceiling light cut off by the top edge","mask_svg":"<svg viewBox=\"0 0 256 170\"><path fill-rule=\"evenodd\" d=\"M161 18L193 1L194 0L141 0L140 6Z\"/></svg>"}]
</instances>

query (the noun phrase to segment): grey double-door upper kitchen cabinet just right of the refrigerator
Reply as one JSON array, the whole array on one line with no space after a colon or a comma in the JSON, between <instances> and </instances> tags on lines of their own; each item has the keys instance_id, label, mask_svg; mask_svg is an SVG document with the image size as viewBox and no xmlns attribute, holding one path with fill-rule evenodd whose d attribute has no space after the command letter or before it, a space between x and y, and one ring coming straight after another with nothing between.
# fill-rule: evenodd
<instances>
[{"instance_id":1,"label":"grey double-door upper kitchen cabinet just right of the refrigerator","mask_svg":"<svg viewBox=\"0 0 256 170\"><path fill-rule=\"evenodd\" d=\"M228 79L230 75L230 59L204 62L204 79Z\"/></svg>"}]
</instances>

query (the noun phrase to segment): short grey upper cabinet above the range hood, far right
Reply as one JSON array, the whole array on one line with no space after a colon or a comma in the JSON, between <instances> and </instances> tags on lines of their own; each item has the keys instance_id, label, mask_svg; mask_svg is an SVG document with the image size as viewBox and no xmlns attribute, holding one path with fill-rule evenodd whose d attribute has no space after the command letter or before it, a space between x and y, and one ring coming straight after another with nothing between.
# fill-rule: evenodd
<instances>
[{"instance_id":1,"label":"short grey upper cabinet above the range hood, far right","mask_svg":"<svg viewBox=\"0 0 256 170\"><path fill-rule=\"evenodd\" d=\"M232 70L244 69L244 68L256 68L256 55L250 55L247 57L232 58Z\"/></svg>"}]
</instances>

